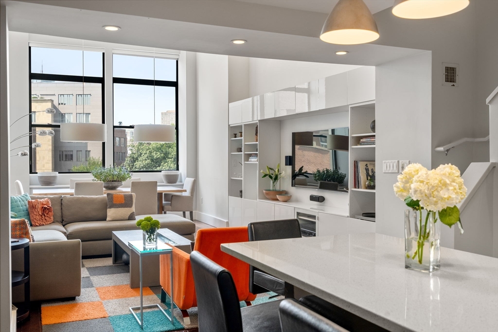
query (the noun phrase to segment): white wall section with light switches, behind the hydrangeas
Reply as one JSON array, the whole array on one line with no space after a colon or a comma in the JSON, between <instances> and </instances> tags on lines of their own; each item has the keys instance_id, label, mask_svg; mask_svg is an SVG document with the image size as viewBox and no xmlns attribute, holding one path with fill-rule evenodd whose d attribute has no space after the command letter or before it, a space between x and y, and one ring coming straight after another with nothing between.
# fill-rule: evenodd
<instances>
[{"instance_id":1,"label":"white wall section with light switches, behind the hydrangeas","mask_svg":"<svg viewBox=\"0 0 498 332\"><path fill-rule=\"evenodd\" d=\"M426 52L375 67L378 163L410 160L431 166L431 64L431 52ZM377 169L381 167L378 165ZM375 231L403 237L406 206L394 196L396 176L376 173Z\"/></svg>"}]
</instances>

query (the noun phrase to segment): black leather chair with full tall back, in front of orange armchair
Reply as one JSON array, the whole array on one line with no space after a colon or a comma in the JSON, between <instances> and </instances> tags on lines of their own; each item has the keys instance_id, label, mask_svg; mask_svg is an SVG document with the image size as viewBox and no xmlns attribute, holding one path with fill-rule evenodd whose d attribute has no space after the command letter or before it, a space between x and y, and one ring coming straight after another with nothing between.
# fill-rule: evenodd
<instances>
[{"instance_id":1,"label":"black leather chair with full tall back, in front of orange armchair","mask_svg":"<svg viewBox=\"0 0 498 332\"><path fill-rule=\"evenodd\" d=\"M240 308L237 289L228 270L198 251L190 254L197 295L199 332L280 332L281 301Z\"/></svg>"}]
</instances>

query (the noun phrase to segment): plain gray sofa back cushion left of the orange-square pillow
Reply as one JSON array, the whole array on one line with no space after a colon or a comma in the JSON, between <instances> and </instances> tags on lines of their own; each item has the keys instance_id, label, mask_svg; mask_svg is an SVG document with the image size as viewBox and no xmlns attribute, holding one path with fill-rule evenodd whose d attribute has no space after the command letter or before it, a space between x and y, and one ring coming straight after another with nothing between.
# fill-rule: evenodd
<instances>
[{"instance_id":1,"label":"plain gray sofa back cushion left of the orange-square pillow","mask_svg":"<svg viewBox=\"0 0 498 332\"><path fill-rule=\"evenodd\" d=\"M102 221L106 219L107 196L62 197L62 224L64 226L71 222Z\"/></svg>"}]
</instances>

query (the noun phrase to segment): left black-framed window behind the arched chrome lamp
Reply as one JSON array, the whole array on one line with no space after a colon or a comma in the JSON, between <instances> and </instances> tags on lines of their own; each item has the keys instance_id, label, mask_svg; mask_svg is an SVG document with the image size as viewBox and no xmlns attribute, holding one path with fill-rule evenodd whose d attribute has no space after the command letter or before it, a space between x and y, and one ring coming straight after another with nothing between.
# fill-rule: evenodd
<instances>
[{"instance_id":1,"label":"left black-framed window behind the arched chrome lamp","mask_svg":"<svg viewBox=\"0 0 498 332\"><path fill-rule=\"evenodd\" d=\"M59 125L105 122L104 53L30 46L29 55L30 111L41 111L29 117L29 144L42 145L30 150L30 172L91 172L105 165L105 143L62 142ZM43 112L47 108L55 114ZM39 136L40 129L54 135Z\"/></svg>"}]
</instances>

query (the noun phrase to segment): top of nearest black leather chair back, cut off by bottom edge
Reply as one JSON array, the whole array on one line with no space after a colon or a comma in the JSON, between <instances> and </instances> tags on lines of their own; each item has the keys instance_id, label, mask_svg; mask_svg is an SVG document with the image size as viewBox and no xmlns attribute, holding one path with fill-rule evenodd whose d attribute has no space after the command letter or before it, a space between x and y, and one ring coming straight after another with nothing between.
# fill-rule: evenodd
<instances>
[{"instance_id":1,"label":"top of nearest black leather chair back, cut off by bottom edge","mask_svg":"<svg viewBox=\"0 0 498 332\"><path fill-rule=\"evenodd\" d=\"M282 332L347 332L334 322L300 305L294 299L280 302Z\"/></svg>"}]
</instances>

